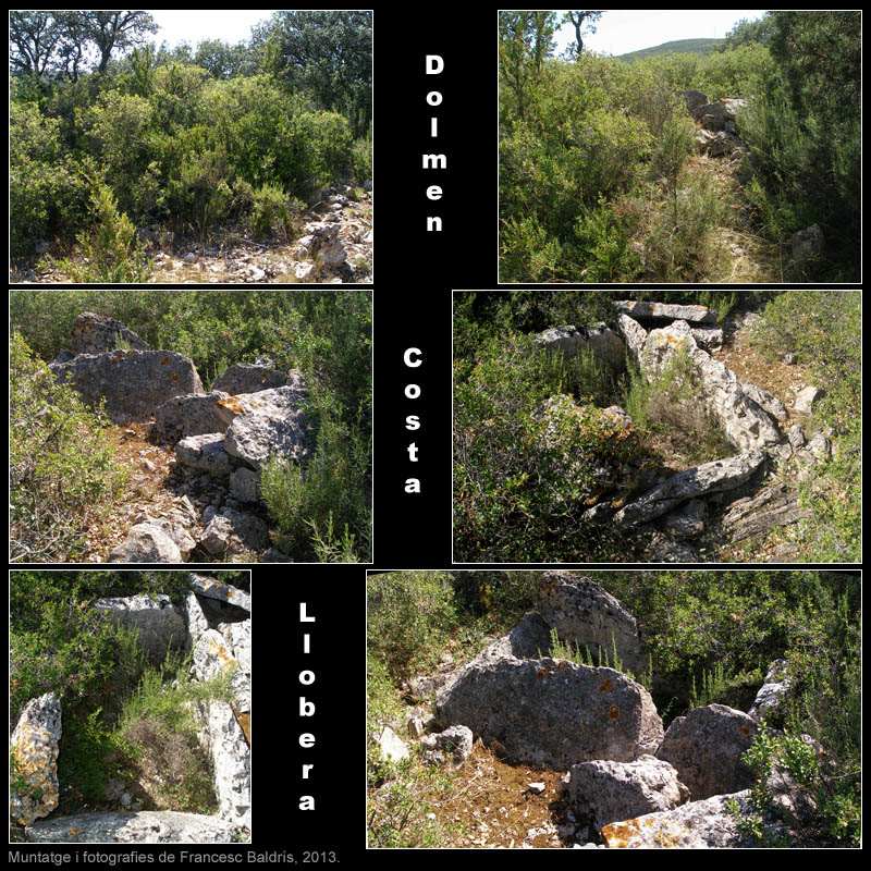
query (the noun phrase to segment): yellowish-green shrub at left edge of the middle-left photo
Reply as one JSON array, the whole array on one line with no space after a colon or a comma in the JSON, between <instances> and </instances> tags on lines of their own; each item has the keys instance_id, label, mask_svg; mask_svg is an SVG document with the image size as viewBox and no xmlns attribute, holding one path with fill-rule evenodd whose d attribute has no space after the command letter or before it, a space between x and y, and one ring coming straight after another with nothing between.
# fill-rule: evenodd
<instances>
[{"instance_id":1,"label":"yellowish-green shrub at left edge of the middle-left photo","mask_svg":"<svg viewBox=\"0 0 871 871\"><path fill-rule=\"evenodd\" d=\"M19 333L10 353L10 538L13 562L65 562L125 483L106 421L59 384Z\"/></svg>"}]
</instances>

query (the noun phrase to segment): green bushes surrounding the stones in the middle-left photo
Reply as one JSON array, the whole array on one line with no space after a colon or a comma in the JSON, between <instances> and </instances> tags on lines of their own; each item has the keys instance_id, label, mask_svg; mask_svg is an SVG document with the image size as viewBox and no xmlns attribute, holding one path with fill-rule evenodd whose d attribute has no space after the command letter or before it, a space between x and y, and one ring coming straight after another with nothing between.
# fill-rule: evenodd
<instances>
[{"instance_id":1,"label":"green bushes surrounding the stones in the middle-left photo","mask_svg":"<svg viewBox=\"0 0 871 871\"><path fill-rule=\"evenodd\" d=\"M37 457L39 486L51 488L51 492L59 488L65 494L63 504L68 506L69 523L79 524L75 527L78 532L87 528L84 512L108 499L106 488L114 481L108 477L109 470L114 469L111 452L95 434L98 425L93 415L82 407L75 393L54 383L45 364L27 352L25 341L44 360L52 359L65 346L75 318L82 311L118 318L152 347L189 356L207 387L231 364L250 363L258 357L272 359L279 368L302 369L309 385L308 410L317 433L316 451L302 473L298 467L270 467L263 488L267 505L284 547L296 559L368 559L371 526L370 294L317 291L13 293L11 323L16 335L21 334L15 340L17 351L12 366L13 408L20 409L17 416L13 416L15 451L22 456L21 464L25 464L27 457L38 453L40 438L54 438L51 444L59 445L53 449L57 452L57 458L51 461L54 465L47 465L56 456L53 452L48 453L48 459L41 454ZM49 407L57 409L51 414L63 417L61 436L51 437L52 430L42 426L44 418L34 417L45 414L40 397L45 401L46 395L50 397ZM81 438L72 439L66 434L78 432ZM64 473L59 479L56 479L56 466ZM27 482L32 478L22 480ZM103 489L95 490L100 487ZM22 484L16 499L24 500L28 492ZM32 502L37 501L39 494L40 499L47 496L42 490L34 490ZM73 503L73 499L77 501ZM22 530L30 523L28 512L36 511L32 502L16 510ZM38 516L42 516L41 513ZM71 541L59 540L51 551L52 559L63 559L66 547L72 547Z\"/></svg>"}]
</instances>

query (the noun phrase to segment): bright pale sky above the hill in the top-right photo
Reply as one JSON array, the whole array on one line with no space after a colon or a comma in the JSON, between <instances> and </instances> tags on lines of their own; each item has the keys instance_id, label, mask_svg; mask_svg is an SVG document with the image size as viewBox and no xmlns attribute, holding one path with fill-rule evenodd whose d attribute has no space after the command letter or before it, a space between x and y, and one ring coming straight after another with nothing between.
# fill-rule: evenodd
<instances>
[{"instance_id":1,"label":"bright pale sky above the hill in the top-right photo","mask_svg":"<svg viewBox=\"0 0 871 871\"><path fill-rule=\"evenodd\" d=\"M584 39L585 49L600 54L625 54L673 39L722 38L741 19L760 19L764 10L614 10L603 12L594 34ZM557 53L573 42L569 25L557 34Z\"/></svg>"}]
</instances>

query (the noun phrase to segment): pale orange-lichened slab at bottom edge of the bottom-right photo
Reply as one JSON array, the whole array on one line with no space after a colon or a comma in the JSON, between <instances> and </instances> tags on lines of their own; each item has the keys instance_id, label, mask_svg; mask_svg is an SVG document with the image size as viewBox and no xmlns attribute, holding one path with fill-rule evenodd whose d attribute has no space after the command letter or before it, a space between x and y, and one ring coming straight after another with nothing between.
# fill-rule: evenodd
<instances>
[{"instance_id":1,"label":"pale orange-lichened slab at bottom edge of the bottom-right photo","mask_svg":"<svg viewBox=\"0 0 871 871\"><path fill-rule=\"evenodd\" d=\"M613 848L699 849L750 846L738 832L740 815L732 812L732 806L737 806L739 814L749 814L749 790L713 796L672 810L610 823L602 826L600 834L605 846Z\"/></svg>"}]
</instances>

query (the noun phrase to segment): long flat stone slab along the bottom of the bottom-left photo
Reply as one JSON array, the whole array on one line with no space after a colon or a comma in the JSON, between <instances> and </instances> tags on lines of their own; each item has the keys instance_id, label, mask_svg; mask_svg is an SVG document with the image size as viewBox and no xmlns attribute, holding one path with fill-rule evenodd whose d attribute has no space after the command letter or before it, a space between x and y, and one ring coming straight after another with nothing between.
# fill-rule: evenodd
<instances>
[{"instance_id":1,"label":"long flat stone slab along the bottom of the bottom-left photo","mask_svg":"<svg viewBox=\"0 0 871 871\"><path fill-rule=\"evenodd\" d=\"M250 841L250 833L220 817L142 810L44 820L28 826L26 841L42 844L231 844Z\"/></svg>"}]
</instances>

